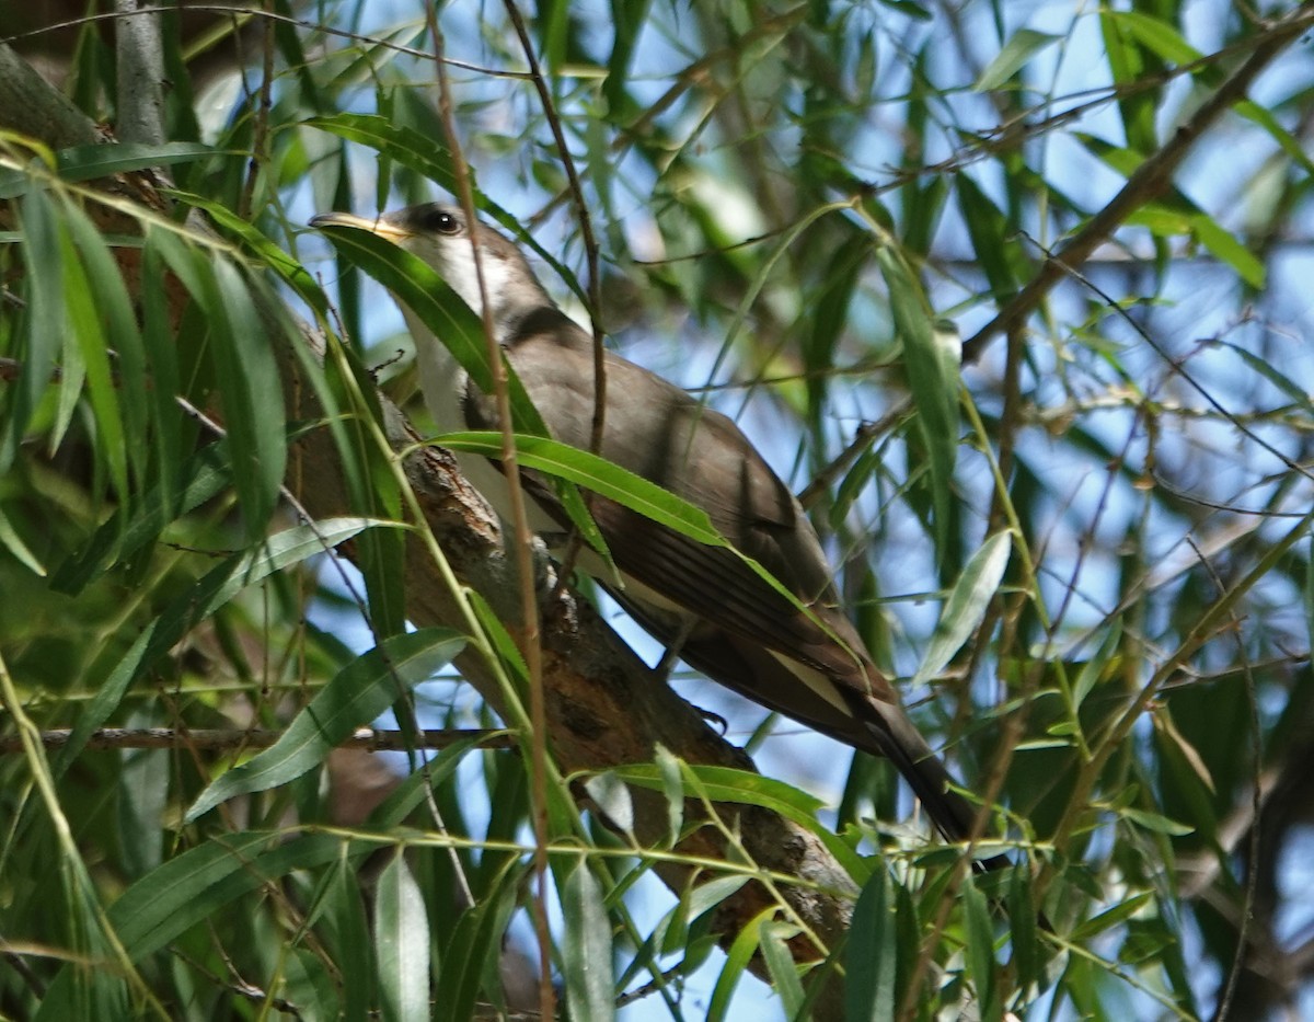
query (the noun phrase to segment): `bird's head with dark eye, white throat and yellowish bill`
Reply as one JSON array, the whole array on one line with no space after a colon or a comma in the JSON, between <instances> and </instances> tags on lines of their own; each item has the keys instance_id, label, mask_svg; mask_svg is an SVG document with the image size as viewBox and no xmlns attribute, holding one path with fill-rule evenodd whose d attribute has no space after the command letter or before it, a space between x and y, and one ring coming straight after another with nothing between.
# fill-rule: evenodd
<instances>
[{"instance_id":1,"label":"bird's head with dark eye, white throat and yellowish bill","mask_svg":"<svg viewBox=\"0 0 1314 1022\"><path fill-rule=\"evenodd\" d=\"M468 221L457 206L427 202L373 219L351 213L322 213L310 226L356 227L386 238L432 267L476 313L482 306L474 264L478 250L484 294L498 335L533 309L552 305L520 250L491 227Z\"/></svg>"}]
</instances>

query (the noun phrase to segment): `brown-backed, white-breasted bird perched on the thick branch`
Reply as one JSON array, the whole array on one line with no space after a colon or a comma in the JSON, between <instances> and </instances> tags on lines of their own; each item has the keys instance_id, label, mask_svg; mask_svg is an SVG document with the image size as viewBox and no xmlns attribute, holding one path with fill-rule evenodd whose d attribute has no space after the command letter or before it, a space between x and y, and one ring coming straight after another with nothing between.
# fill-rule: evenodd
<instances>
[{"instance_id":1,"label":"brown-backed, white-breasted bird perched on the thick branch","mask_svg":"<svg viewBox=\"0 0 1314 1022\"><path fill-rule=\"evenodd\" d=\"M359 227L392 240L481 311L477 246L493 328L507 361L552 436L589 449L593 338L557 309L515 244L444 204L377 219L327 213L310 223ZM438 427L497 428L491 401L410 309L402 305L402 313ZM604 365L602 456L706 511L736 549L766 567L807 611L732 550L703 545L595 495L590 510L624 587L607 574L598 581L658 640L682 638L679 655L710 678L855 749L890 758L941 833L966 839L975 809L950 789L947 770L840 611L821 544L794 494L731 419L616 355L608 352ZM501 469L478 456L463 457L461 466L505 515ZM552 490L532 478L530 483L537 504L531 527L562 533L569 522Z\"/></svg>"}]
</instances>

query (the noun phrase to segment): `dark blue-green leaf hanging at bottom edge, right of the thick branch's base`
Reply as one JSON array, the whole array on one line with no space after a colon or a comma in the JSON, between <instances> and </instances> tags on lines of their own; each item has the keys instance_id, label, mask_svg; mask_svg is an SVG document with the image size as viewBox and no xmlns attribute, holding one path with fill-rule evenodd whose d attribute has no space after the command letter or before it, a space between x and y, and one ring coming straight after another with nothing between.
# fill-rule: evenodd
<instances>
[{"instance_id":1,"label":"dark blue-green leaf hanging at bottom edge, right of the thick branch's base","mask_svg":"<svg viewBox=\"0 0 1314 1022\"><path fill-rule=\"evenodd\" d=\"M878 867L862 888L844 952L844 1017L849 1022L895 1018L899 941L894 883Z\"/></svg>"}]
</instances>

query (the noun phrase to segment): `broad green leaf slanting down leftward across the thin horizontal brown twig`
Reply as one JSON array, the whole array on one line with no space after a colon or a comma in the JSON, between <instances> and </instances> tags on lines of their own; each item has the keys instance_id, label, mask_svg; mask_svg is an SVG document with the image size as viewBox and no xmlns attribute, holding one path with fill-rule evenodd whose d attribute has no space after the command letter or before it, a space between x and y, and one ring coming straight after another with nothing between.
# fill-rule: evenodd
<instances>
[{"instance_id":1,"label":"broad green leaf slanting down leftward across the thin horizontal brown twig","mask_svg":"<svg viewBox=\"0 0 1314 1022\"><path fill-rule=\"evenodd\" d=\"M247 763L210 784L184 820L191 822L237 795L268 791L323 762L363 724L451 662L465 637L448 628L424 628L385 640L343 667L293 719L283 737Z\"/></svg>"}]
</instances>

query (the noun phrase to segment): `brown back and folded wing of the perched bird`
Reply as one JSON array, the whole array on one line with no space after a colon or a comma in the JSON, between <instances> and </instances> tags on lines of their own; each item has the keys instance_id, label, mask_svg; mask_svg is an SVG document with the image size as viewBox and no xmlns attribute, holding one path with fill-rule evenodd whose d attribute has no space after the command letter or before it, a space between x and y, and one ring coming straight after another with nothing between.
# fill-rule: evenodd
<instances>
[{"instance_id":1,"label":"brown back and folded wing of the perched bird","mask_svg":"<svg viewBox=\"0 0 1314 1022\"><path fill-rule=\"evenodd\" d=\"M552 435L587 449L594 402L591 342L561 313L527 327L510 347L509 360ZM624 359L608 355L606 372L602 456L703 508L740 553L770 571L808 612L732 550L707 546L620 504L595 499L594 518L616 566L707 624L813 667L865 696L894 699L851 624L836 608L816 533L738 427ZM490 402L477 395L466 402L466 418L484 428L495 420ZM536 497L548 502L541 487ZM562 520L560 508L549 510ZM612 543L620 536L624 543Z\"/></svg>"}]
</instances>

